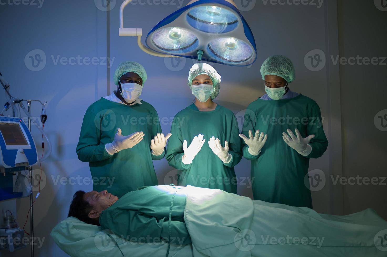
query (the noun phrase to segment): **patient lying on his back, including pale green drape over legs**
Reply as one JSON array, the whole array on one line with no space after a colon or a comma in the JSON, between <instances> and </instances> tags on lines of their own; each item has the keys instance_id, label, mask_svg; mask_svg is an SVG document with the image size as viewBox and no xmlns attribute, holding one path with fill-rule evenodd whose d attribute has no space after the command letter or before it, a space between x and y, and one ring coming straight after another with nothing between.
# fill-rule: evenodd
<instances>
[{"instance_id":1,"label":"patient lying on his back, including pale green drape over legs","mask_svg":"<svg viewBox=\"0 0 387 257\"><path fill-rule=\"evenodd\" d=\"M68 216L137 242L192 243L204 256L245 254L246 245L251 255L243 256L385 256L387 222L371 209L319 214L219 189L151 186L120 199L106 190L77 191Z\"/></svg>"}]
</instances>

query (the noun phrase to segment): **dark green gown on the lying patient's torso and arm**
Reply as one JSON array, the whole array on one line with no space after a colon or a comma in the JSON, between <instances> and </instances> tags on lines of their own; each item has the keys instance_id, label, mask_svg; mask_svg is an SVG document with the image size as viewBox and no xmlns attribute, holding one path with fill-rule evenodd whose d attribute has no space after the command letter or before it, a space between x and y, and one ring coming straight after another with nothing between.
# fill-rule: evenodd
<instances>
[{"instance_id":1,"label":"dark green gown on the lying patient's torso and arm","mask_svg":"<svg viewBox=\"0 0 387 257\"><path fill-rule=\"evenodd\" d=\"M102 211L99 224L134 242L189 244L184 222L186 194L175 188L154 186L128 192Z\"/></svg>"}]
</instances>

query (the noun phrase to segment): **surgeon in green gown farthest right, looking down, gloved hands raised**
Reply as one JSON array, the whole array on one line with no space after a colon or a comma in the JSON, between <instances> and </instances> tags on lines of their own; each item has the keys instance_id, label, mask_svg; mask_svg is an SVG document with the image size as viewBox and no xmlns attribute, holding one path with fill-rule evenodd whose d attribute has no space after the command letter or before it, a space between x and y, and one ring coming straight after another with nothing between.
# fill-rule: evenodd
<instances>
[{"instance_id":1,"label":"surgeon in green gown farthest right, looking down, gloved hands raised","mask_svg":"<svg viewBox=\"0 0 387 257\"><path fill-rule=\"evenodd\" d=\"M248 105L240 135L243 156L251 160L254 199L312 208L304 178L310 158L319 158L328 146L320 108L290 91L295 69L288 57L270 56L260 72L267 94Z\"/></svg>"}]
</instances>

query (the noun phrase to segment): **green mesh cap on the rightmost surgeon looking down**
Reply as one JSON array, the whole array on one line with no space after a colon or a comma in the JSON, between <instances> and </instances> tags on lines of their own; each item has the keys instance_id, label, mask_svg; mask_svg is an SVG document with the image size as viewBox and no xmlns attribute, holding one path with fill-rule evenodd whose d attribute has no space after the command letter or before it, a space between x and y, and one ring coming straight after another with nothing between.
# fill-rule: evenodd
<instances>
[{"instance_id":1,"label":"green mesh cap on the rightmost surgeon looking down","mask_svg":"<svg viewBox=\"0 0 387 257\"><path fill-rule=\"evenodd\" d=\"M263 80L265 80L265 75L277 75L290 83L295 79L296 71L288 57L272 55L262 63L261 75Z\"/></svg>"}]
</instances>

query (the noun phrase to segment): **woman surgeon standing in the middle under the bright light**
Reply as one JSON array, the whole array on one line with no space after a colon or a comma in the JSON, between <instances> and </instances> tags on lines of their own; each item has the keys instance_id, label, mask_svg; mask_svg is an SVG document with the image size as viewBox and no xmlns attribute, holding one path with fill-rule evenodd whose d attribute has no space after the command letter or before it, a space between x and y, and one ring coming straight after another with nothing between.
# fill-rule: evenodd
<instances>
[{"instance_id":1,"label":"woman surgeon standing in the middle under the bright light","mask_svg":"<svg viewBox=\"0 0 387 257\"><path fill-rule=\"evenodd\" d=\"M236 194L234 166L242 158L241 141L233 112L212 101L219 94L220 78L211 65L192 66L188 86L196 99L173 119L166 159L180 170L179 185Z\"/></svg>"}]
</instances>

